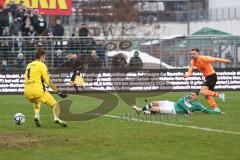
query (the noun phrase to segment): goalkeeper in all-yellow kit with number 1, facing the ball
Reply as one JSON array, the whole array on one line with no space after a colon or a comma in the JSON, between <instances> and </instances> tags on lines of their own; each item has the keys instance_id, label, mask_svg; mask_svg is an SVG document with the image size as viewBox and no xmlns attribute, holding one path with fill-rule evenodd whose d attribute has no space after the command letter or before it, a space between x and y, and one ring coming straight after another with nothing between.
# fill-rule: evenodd
<instances>
[{"instance_id":1,"label":"goalkeeper in all-yellow kit with number 1, facing the ball","mask_svg":"<svg viewBox=\"0 0 240 160\"><path fill-rule=\"evenodd\" d=\"M33 103L35 112L34 121L37 127L41 127L40 122L40 108L41 103L44 103L53 109L54 122L60 124L62 127L67 127L67 123L59 119L59 105L53 96L46 90L45 85L48 85L55 93L62 98L67 95L60 92L52 83L47 66L45 51L38 49L35 55L35 60L28 64L25 72L24 80L24 96Z\"/></svg>"}]
</instances>

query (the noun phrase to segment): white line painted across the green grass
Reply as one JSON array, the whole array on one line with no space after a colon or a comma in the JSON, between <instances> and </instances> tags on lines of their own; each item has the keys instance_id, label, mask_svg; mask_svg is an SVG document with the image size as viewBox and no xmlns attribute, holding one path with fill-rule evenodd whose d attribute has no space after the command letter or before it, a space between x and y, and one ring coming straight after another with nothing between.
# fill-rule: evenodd
<instances>
[{"instance_id":1,"label":"white line painted across the green grass","mask_svg":"<svg viewBox=\"0 0 240 160\"><path fill-rule=\"evenodd\" d=\"M109 118L121 119L119 116L113 116L113 115L102 115L102 116L103 117L109 117ZM135 119L135 118L132 118L131 120L134 121L134 122L141 122L141 123L161 124L161 125L165 125L165 126L180 127L180 128L191 128L191 129L202 130L202 131L207 131L207 132L218 132L218 133L240 135L240 132L226 131L226 130L221 130L221 129L211 129L211 128L204 128L204 127L198 127L198 126L187 126L187 125L160 122L160 121L143 121L143 120L138 120L138 119Z\"/></svg>"}]
</instances>

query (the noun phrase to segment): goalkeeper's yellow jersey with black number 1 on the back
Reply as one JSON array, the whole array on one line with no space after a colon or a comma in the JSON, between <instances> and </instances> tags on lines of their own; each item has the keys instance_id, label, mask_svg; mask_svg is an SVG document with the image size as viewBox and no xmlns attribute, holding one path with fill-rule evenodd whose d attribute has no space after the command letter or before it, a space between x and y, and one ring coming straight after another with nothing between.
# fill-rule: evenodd
<instances>
[{"instance_id":1,"label":"goalkeeper's yellow jersey with black number 1 on the back","mask_svg":"<svg viewBox=\"0 0 240 160\"><path fill-rule=\"evenodd\" d=\"M40 97L45 92L45 84L49 85L47 66L35 60L28 64L24 79L24 96L28 99Z\"/></svg>"}]
</instances>

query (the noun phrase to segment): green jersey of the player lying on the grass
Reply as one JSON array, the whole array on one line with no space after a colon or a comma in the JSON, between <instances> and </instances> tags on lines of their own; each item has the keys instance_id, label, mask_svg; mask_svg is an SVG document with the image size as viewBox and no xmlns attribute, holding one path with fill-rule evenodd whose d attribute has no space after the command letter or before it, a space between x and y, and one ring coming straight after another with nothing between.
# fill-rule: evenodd
<instances>
[{"instance_id":1,"label":"green jersey of the player lying on the grass","mask_svg":"<svg viewBox=\"0 0 240 160\"><path fill-rule=\"evenodd\" d=\"M207 109L204 107L200 102L190 100L190 96L184 96L180 98L177 102L174 103L174 108L177 114L184 114L187 113L189 110L190 112L200 111L204 113L220 113L218 111L214 111L212 109Z\"/></svg>"}]
</instances>

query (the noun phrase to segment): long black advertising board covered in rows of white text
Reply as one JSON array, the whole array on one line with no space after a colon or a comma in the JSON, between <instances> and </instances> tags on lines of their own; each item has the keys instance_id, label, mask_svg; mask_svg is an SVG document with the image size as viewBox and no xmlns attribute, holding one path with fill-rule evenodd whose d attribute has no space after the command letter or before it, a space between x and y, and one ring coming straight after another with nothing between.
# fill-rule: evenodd
<instances>
[{"instance_id":1,"label":"long black advertising board covered in rows of white text","mask_svg":"<svg viewBox=\"0 0 240 160\"><path fill-rule=\"evenodd\" d=\"M82 73L85 84L83 91L101 92L154 92L199 90L204 77L199 72L185 81L185 69L139 70L135 72ZM216 90L240 90L240 69L217 69ZM72 73L53 73L52 81L66 92L75 92L70 84ZM0 73L0 94L22 93L24 89L23 73ZM79 88L82 90L81 88Z\"/></svg>"}]
</instances>

